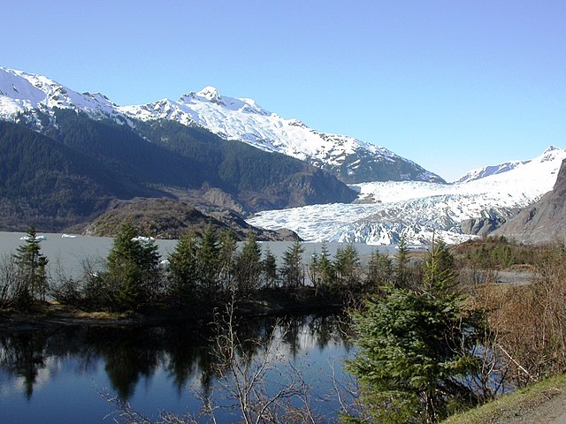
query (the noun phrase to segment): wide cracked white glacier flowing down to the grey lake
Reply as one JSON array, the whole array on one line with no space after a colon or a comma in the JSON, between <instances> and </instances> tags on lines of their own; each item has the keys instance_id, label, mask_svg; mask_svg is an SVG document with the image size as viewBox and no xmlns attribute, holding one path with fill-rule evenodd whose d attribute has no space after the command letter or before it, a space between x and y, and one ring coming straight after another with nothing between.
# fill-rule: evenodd
<instances>
[{"instance_id":1,"label":"wide cracked white glacier flowing down to the grey lake","mask_svg":"<svg viewBox=\"0 0 566 424\"><path fill-rule=\"evenodd\" d=\"M405 235L410 244L425 244L432 233L448 243L493 230L555 185L566 149L550 147L512 169L454 185L404 181L374 182L353 187L354 204L314 205L264 211L249 223L269 229L287 228L312 241L396 244Z\"/></svg>"}]
</instances>

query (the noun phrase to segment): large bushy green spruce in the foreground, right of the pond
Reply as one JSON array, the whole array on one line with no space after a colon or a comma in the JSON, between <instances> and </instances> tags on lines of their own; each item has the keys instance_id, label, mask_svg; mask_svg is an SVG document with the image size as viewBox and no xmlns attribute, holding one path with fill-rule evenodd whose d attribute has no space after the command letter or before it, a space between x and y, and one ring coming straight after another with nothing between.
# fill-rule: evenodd
<instances>
[{"instance_id":1,"label":"large bushy green spruce in the foreground, right of the pond","mask_svg":"<svg viewBox=\"0 0 566 424\"><path fill-rule=\"evenodd\" d=\"M365 416L353 422L436 422L478 403L465 377L478 370L470 352L482 322L451 292L455 270L442 269L446 245L432 247L416 290L386 285L353 314Z\"/></svg>"}]
</instances>

